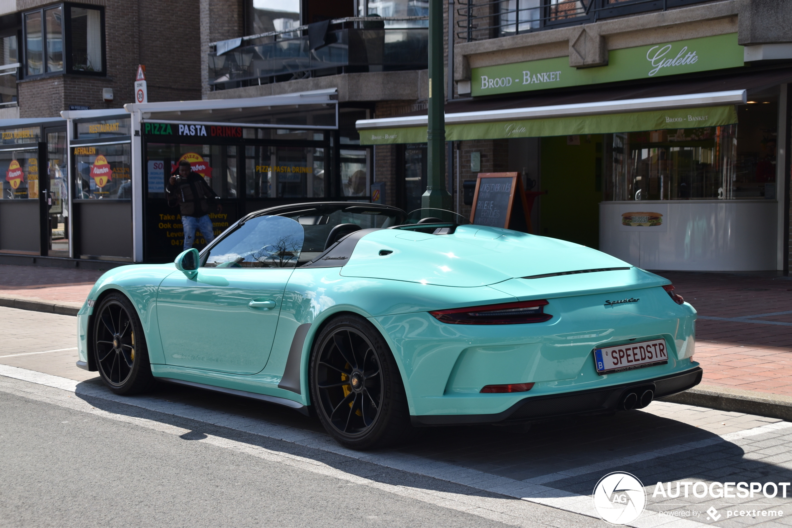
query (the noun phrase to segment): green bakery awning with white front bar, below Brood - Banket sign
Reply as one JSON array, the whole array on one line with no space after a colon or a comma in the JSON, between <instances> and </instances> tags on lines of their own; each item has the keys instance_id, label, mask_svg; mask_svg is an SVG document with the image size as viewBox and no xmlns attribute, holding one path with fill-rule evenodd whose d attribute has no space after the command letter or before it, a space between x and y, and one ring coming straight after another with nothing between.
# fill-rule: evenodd
<instances>
[{"instance_id":1,"label":"green bakery awning with white front bar, below Brood - Banket sign","mask_svg":"<svg viewBox=\"0 0 792 528\"><path fill-rule=\"evenodd\" d=\"M737 123L734 105L746 101L747 91L737 89L620 101L446 113L446 139L534 138L714 127ZM356 122L360 143L364 145L426 142L427 124L427 116Z\"/></svg>"}]
</instances>

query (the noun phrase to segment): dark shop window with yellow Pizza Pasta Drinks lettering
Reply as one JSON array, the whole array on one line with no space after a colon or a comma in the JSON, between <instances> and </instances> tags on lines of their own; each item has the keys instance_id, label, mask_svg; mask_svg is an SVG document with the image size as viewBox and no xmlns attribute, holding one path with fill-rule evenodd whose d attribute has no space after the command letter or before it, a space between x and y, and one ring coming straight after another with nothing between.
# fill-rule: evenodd
<instances>
[{"instance_id":1,"label":"dark shop window with yellow Pizza Pasta Drinks lettering","mask_svg":"<svg viewBox=\"0 0 792 528\"><path fill-rule=\"evenodd\" d=\"M325 196L325 149L300 146L247 146L249 198Z\"/></svg>"}]
</instances>

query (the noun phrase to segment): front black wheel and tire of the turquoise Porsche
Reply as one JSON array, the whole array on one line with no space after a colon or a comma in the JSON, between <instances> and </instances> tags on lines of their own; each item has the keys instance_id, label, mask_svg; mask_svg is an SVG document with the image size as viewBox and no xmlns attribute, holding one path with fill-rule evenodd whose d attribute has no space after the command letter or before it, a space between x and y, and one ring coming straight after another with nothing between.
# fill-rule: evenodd
<instances>
[{"instance_id":1,"label":"front black wheel and tire of the turquoise Porsche","mask_svg":"<svg viewBox=\"0 0 792 528\"><path fill-rule=\"evenodd\" d=\"M99 375L112 392L130 395L154 385L143 326L124 294L102 299L93 312L92 334Z\"/></svg>"}]
</instances>

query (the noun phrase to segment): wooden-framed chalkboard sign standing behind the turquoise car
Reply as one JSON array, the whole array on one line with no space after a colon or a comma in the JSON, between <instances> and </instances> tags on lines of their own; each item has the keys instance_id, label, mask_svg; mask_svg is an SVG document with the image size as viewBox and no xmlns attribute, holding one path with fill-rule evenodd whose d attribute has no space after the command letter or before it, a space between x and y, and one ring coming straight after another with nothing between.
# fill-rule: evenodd
<instances>
[{"instance_id":1,"label":"wooden-framed chalkboard sign standing behind the turquoise car","mask_svg":"<svg viewBox=\"0 0 792 528\"><path fill-rule=\"evenodd\" d=\"M520 173L479 173L470 222L531 232L531 218Z\"/></svg>"}]
</instances>

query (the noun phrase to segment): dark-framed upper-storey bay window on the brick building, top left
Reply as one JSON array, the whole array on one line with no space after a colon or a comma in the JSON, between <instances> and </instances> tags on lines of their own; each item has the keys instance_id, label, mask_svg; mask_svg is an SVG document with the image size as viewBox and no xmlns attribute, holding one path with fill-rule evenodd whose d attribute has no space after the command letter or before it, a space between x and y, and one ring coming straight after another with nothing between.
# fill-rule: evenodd
<instances>
[{"instance_id":1,"label":"dark-framed upper-storey bay window on the brick building, top left","mask_svg":"<svg viewBox=\"0 0 792 528\"><path fill-rule=\"evenodd\" d=\"M104 72L104 11L63 4L24 15L25 75Z\"/></svg>"}]
</instances>

